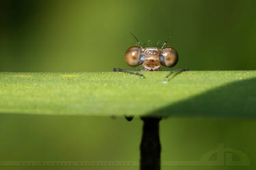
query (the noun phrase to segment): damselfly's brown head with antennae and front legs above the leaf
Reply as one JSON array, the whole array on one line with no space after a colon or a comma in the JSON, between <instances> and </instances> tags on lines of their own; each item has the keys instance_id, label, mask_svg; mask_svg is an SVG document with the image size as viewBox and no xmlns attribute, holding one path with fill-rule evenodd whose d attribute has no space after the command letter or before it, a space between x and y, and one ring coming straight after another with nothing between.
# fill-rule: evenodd
<instances>
[{"instance_id":1,"label":"damselfly's brown head with antennae and front legs above the leaf","mask_svg":"<svg viewBox=\"0 0 256 170\"><path fill-rule=\"evenodd\" d=\"M161 48L156 48L156 47L143 48L141 46L141 42L139 41L139 39L137 39L137 37L135 37L135 35L133 34L132 36L136 39L137 44L139 46L131 46L126 51L125 59L128 65L132 67L142 65L141 71L162 71L161 66L174 67L177 64L177 61L179 59L177 51L170 46L165 47L169 39L167 39L167 41L165 41L165 43L162 44ZM139 73L138 71L132 71L127 69L116 69L116 68L114 68L113 71L122 71L126 73L137 74L137 75L140 75L141 78L145 78L145 76L142 73ZM180 72L180 71L188 71L188 68L175 69L171 71L165 78L169 78L169 76L172 73Z\"/></svg>"}]
</instances>

